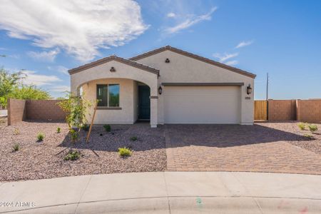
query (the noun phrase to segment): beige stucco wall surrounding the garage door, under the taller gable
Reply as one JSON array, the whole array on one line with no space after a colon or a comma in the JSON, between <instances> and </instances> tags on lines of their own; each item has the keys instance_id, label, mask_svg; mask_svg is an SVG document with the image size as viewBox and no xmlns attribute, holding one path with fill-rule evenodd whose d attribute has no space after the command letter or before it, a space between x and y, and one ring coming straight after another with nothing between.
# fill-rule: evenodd
<instances>
[{"instance_id":1,"label":"beige stucco wall surrounding the garage door, under the taller gable","mask_svg":"<svg viewBox=\"0 0 321 214\"><path fill-rule=\"evenodd\" d=\"M170 63L165 63L165 58L170 59ZM199 61L188 56L176 54L173 51L163 51L153 56L148 56L138 60L160 70L158 85L161 83L226 83L243 82L240 87L240 123L253 124L254 111L254 79L240 73L229 71L225 68L213 66L209 63ZM248 94L246 88L248 84L253 88L250 99L245 99ZM165 90L165 87L163 87ZM163 96L158 95L158 123L164 123Z\"/></svg>"}]
</instances>

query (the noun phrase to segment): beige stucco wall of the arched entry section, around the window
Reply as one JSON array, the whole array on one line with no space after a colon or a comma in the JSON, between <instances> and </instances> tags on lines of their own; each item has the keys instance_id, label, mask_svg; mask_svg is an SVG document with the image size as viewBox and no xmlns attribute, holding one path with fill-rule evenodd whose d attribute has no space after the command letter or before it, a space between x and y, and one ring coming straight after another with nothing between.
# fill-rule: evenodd
<instances>
[{"instance_id":1,"label":"beige stucco wall of the arched entry section, around the window","mask_svg":"<svg viewBox=\"0 0 321 214\"><path fill-rule=\"evenodd\" d=\"M116 72L109 71L111 67L116 68ZM118 78L117 81L115 81L116 78ZM88 98L96 99L96 83L101 81L103 81L101 83L107 83L107 81L113 81L113 83L121 82L120 107L123 109L98 110L95 123L133 123L137 118L137 110L134 109L134 93L136 93L134 91L134 81L145 83L151 88L151 96L157 96L157 78L158 76L155 73L128 66L118 61L108 61L99 66L73 73L71 75L71 92L79 95L79 88L83 86L83 92L86 93ZM135 104L137 105L137 103ZM155 102L151 103L152 127L156 127L158 124L157 104Z\"/></svg>"}]
</instances>

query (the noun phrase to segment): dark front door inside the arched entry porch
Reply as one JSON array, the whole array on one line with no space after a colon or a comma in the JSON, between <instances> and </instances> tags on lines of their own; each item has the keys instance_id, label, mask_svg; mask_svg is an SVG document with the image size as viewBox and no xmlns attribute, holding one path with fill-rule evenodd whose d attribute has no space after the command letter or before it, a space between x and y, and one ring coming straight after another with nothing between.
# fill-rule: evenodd
<instances>
[{"instance_id":1,"label":"dark front door inside the arched entry porch","mask_svg":"<svg viewBox=\"0 0 321 214\"><path fill-rule=\"evenodd\" d=\"M151 119L151 89L148 86L138 86L138 119Z\"/></svg>"}]
</instances>

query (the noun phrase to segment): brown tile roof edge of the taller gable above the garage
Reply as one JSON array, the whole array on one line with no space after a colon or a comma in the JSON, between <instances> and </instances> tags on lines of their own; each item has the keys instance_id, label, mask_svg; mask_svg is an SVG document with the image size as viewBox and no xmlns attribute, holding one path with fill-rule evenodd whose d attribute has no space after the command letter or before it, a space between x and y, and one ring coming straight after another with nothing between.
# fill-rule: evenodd
<instances>
[{"instance_id":1,"label":"brown tile roof edge of the taller gable above the garage","mask_svg":"<svg viewBox=\"0 0 321 214\"><path fill-rule=\"evenodd\" d=\"M161 48L159 48L159 49L155 49L155 50L153 50L153 51L148 51L148 52L146 52L146 53L144 53L144 54L140 54L140 55L138 55L138 56L133 56L132 58L129 58L129 59L132 60L132 61L138 61L138 60L140 60L141 58L146 58L146 57L148 57L148 56L152 56L152 55L154 55L154 54L158 54L158 53L161 53L161 52L163 52L163 51L173 51L173 52L176 53L176 54L181 54L181 55L184 55L184 56L188 56L188 57L191 57L191 58L195 58L195 59L197 59L197 60L199 60L199 61L203 61L203 62L205 62L205 63L210 63L210 64L212 64L212 65L214 65L214 66L218 66L218 67L220 67L220 68L225 68L225 69L227 69L227 70L229 70L229 71L233 71L233 72L235 72L235 73L240 73L240 74L243 74L243 75L245 75L245 76L249 76L249 77L251 77L251 78L255 78L255 76L256 76L254 73L250 73L250 72L248 72L248 71L243 71L243 70L241 70L241 69L239 69L239 68L234 68L234 67L232 67L232 66L228 66L228 65L225 65L225 64L223 64L223 63L219 63L218 61L213 61L212 59L205 58L205 57L203 57L203 56L198 56L198 55L195 55L195 54L191 54L191 53L189 53L189 52L187 52L187 51L183 51L183 50L180 50L180 49L176 49L176 48L174 48L174 47L172 47L172 46L164 46L164 47L161 47Z\"/></svg>"}]
</instances>

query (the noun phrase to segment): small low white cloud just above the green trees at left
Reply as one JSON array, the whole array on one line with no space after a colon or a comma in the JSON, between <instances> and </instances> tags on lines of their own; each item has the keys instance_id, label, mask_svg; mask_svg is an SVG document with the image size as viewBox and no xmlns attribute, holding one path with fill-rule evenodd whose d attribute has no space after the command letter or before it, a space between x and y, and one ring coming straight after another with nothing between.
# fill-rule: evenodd
<instances>
[{"instance_id":1,"label":"small low white cloud just above the green trees at left","mask_svg":"<svg viewBox=\"0 0 321 214\"><path fill-rule=\"evenodd\" d=\"M44 86L61 81L57 76L36 74L36 71L24 70L22 73L26 74L26 78L22 81L26 85Z\"/></svg>"}]
</instances>

